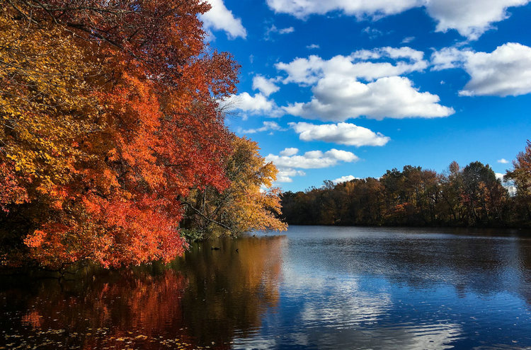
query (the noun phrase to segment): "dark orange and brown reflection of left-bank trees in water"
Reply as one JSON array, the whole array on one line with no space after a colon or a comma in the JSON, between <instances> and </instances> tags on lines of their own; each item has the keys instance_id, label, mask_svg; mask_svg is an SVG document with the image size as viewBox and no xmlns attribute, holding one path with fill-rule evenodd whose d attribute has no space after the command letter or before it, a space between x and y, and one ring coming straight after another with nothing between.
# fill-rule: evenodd
<instances>
[{"instance_id":1,"label":"dark orange and brown reflection of left-bank trees in water","mask_svg":"<svg viewBox=\"0 0 531 350\"><path fill-rule=\"evenodd\" d=\"M8 349L226 349L278 301L285 237L193 245L169 265L0 286ZM238 252L236 252L238 249ZM0 337L2 338L2 337Z\"/></svg>"}]
</instances>

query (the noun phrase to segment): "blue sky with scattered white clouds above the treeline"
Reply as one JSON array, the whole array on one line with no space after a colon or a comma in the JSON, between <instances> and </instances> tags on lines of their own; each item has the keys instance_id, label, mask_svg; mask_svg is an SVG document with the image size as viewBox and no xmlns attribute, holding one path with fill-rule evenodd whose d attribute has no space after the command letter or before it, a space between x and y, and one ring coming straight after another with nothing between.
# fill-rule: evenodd
<instances>
[{"instance_id":1,"label":"blue sky with scattered white clouds above the treeline","mask_svg":"<svg viewBox=\"0 0 531 350\"><path fill-rule=\"evenodd\" d=\"M210 45L241 64L227 123L286 191L452 161L505 173L531 139L530 0L208 2Z\"/></svg>"}]
</instances>

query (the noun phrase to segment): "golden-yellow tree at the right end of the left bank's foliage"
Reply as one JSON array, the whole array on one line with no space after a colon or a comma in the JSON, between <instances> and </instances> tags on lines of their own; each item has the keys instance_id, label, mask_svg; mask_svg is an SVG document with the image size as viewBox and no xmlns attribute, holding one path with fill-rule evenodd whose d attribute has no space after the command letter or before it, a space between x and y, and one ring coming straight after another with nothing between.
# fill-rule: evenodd
<instances>
[{"instance_id":1,"label":"golden-yellow tree at the right end of the left bank's foliage","mask_svg":"<svg viewBox=\"0 0 531 350\"><path fill-rule=\"evenodd\" d=\"M232 151L224 161L229 187L212 187L190 192L183 226L191 238L207 238L211 233L235 235L244 231L284 231L280 214L280 189L272 187L278 172L265 163L258 144L232 136Z\"/></svg>"}]
</instances>

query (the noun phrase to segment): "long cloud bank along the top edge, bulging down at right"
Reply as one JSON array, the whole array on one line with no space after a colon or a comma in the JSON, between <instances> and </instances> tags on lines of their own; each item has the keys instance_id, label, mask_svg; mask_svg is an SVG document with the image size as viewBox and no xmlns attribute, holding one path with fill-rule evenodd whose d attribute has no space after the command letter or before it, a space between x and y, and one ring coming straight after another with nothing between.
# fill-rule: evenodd
<instances>
[{"instance_id":1,"label":"long cloud bank along the top edge, bulging down at right","mask_svg":"<svg viewBox=\"0 0 531 350\"><path fill-rule=\"evenodd\" d=\"M428 15L437 23L436 30L445 32L455 29L460 35L475 40L492 23L508 18L507 9L523 6L530 0L267 0L270 8L278 13L289 13L300 19L312 14L341 11L358 18L380 18L394 15L410 8L424 6Z\"/></svg>"}]
</instances>

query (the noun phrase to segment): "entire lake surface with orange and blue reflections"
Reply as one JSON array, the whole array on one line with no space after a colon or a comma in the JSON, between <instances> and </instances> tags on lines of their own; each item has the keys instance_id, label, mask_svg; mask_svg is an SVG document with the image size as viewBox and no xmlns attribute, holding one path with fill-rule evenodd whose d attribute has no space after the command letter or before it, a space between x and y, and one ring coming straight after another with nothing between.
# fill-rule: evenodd
<instances>
[{"instance_id":1,"label":"entire lake surface with orange and blue reflections","mask_svg":"<svg viewBox=\"0 0 531 350\"><path fill-rule=\"evenodd\" d=\"M0 276L0 349L531 349L531 239L479 233L292 226L170 267Z\"/></svg>"}]
</instances>

